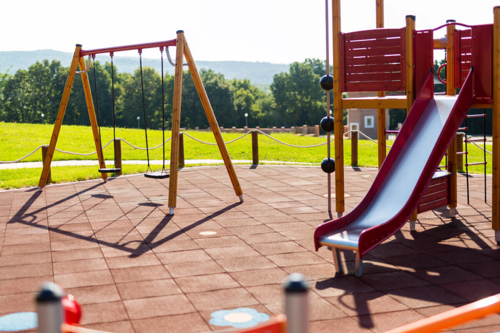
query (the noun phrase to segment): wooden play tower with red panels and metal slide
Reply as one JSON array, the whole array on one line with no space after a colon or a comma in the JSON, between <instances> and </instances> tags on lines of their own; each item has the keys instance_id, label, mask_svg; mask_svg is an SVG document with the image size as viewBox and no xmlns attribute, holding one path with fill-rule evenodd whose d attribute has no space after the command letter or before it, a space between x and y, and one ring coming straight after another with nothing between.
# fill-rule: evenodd
<instances>
[{"instance_id":1,"label":"wooden play tower with red panels and metal slide","mask_svg":"<svg viewBox=\"0 0 500 333\"><path fill-rule=\"evenodd\" d=\"M316 228L316 250L320 246L332 250L337 272L342 272L339 250L354 251L355 274L360 276L363 255L408 220L410 229L414 230L417 213L447 205L450 217L454 217L457 206L455 134L469 108L493 109L492 229L495 240L500 242L497 153L500 144L500 7L493 10L493 24L471 26L448 20L434 29L415 30L415 17L408 15L405 27L384 29L383 0L377 0L376 29L342 33L340 0L332 0L332 4L331 89L338 218ZM446 37L434 39L434 31L441 28L446 29ZM434 49L445 49L447 54L447 83L443 95L433 92ZM376 91L377 97L343 98L342 93L348 91ZM402 91L404 95L385 96L386 91ZM359 205L342 216L344 108L378 109L379 172ZM404 108L407 114L387 155L385 108ZM437 171L446 150L447 170ZM468 165L473 164L485 162Z\"/></svg>"}]
</instances>

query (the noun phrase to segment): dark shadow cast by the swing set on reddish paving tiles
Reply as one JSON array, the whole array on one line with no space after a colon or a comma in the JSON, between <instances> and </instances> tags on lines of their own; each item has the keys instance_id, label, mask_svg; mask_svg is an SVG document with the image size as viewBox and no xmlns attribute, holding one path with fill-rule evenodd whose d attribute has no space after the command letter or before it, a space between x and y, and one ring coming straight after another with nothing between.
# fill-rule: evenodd
<instances>
[{"instance_id":1,"label":"dark shadow cast by the swing set on reddish paving tiles","mask_svg":"<svg viewBox=\"0 0 500 333\"><path fill-rule=\"evenodd\" d=\"M51 227L49 226L48 224L45 226L45 225L40 225L40 224L37 224L36 223L36 214L37 213L41 213L43 211L46 211L48 208L51 208L51 207L56 207L57 205L65 202L65 201L68 201L72 198L75 198L75 197L78 197L79 195L81 194L84 194L85 192L88 192L88 191L91 191L99 186L101 186L102 183L100 184L96 184L94 186L91 186L87 189L84 189L80 192L77 192L75 194L72 194L68 197L65 197L63 199L60 199L52 204L49 204L43 208L40 208L40 209L37 209L37 210L34 210L30 213L26 213L26 211L29 209L29 207L31 206L32 203L34 203L36 201L36 199L41 195L41 192L40 191L36 191L35 193L33 193L31 195L31 197L26 200L26 204L24 204L20 209L19 211L17 211L14 216L9 220L7 221L7 224L13 224L13 223L20 223L20 224L23 224L25 226L30 226L30 227L35 227L35 228L40 228L40 229L46 229L50 232L54 232L54 233L57 233L57 234L60 234L60 235L64 235L64 236L68 236L68 237L73 237L75 239L79 239L79 240L84 240L84 241L88 241L88 242L92 242L92 243L96 243L100 246L106 246L106 247L110 247L110 248L113 248L113 249L117 249L117 250L120 250L120 251L123 251L123 252L128 252L129 253L129 258L137 258L141 255L143 255L144 253L150 251L150 250L154 250L155 248L157 248L158 246L161 246L163 245L164 243L168 242L168 241L171 241L171 240L174 240L175 238L185 234L186 232L188 232L189 230L193 229L193 228L196 228L200 225L202 225L203 223L221 215L221 214L224 214L226 213L227 211L239 206L241 204L241 202L236 202L234 204L231 204L231 205L228 205L210 215L207 215L206 217L200 219L200 220L197 220L195 222L193 222L192 224L184 227L184 228L181 228L180 230L177 230L175 232L172 232L171 234L159 239L159 240L156 240L155 241L155 238L159 235L159 233L163 230L163 228L165 228L165 226L168 225L168 223L171 221L171 218L172 216L171 215L166 215L165 217L163 217L161 219L161 221L153 228L153 230L151 232L149 232L149 234L142 240L142 239L137 239L136 241L135 240L132 240L132 241L127 241L125 243L122 243L120 244L120 241L121 240L118 240L117 242L115 243L112 243L112 242L108 242L108 241L105 241L105 240L101 240L101 239L98 239L98 238L95 238L95 231L92 232L92 236L84 236L84 235L79 235L77 233L74 233L74 232L71 232L71 231L67 231L67 230L62 230L60 229L61 226L65 225L65 223L61 223L59 226L56 226L56 227ZM102 200L105 200L105 199L110 199L112 198L112 196L106 196L106 197L101 197L100 195L96 195L95 198L100 198ZM152 202L144 202L144 203L138 203L137 204L138 206L154 206L154 207L157 207L158 204L155 204L155 203L152 203ZM130 212L128 212L130 213ZM123 214L124 216L126 216L126 213ZM146 217L144 217L142 220L146 219ZM112 223L114 221L109 221L109 223ZM47 222L48 223L48 222ZM137 224L139 225L140 222ZM135 225L133 228L135 228L137 225ZM131 245L132 244L137 244L138 245L136 247L132 247Z\"/></svg>"}]
</instances>

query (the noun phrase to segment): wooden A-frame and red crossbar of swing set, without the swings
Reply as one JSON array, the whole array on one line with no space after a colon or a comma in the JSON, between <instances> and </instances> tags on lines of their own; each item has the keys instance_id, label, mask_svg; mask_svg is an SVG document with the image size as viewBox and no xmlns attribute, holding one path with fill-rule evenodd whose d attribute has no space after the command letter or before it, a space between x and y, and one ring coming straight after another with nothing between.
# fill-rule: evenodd
<instances>
[{"instance_id":1,"label":"wooden A-frame and red crossbar of swing set, without the swings","mask_svg":"<svg viewBox=\"0 0 500 333\"><path fill-rule=\"evenodd\" d=\"M210 124L210 128L215 137L215 141L219 148L220 154L222 155L222 160L226 167L227 173L232 183L234 192L238 196L241 202L243 199L243 192L238 182L236 173L232 166L229 153L225 146L220 128L213 113L212 106L208 100L203 82L194 63L194 59L191 55L191 51L184 37L184 31L178 30L176 39L167 40L163 42L153 42L144 44L135 44L127 46L117 46L110 48L101 48L95 50L82 50L80 44L76 44L76 48L73 53L73 58L71 65L69 66L69 73L66 78L66 84L64 86L64 91L62 93L61 101L59 104L59 109L57 111L57 117L55 118L54 129L52 131L52 136L50 138L50 144L47 149L45 160L43 162L43 169L40 175L40 181L38 182L38 190L41 191L45 186L47 176L50 170L50 163L52 162L52 157L55 150L55 144L57 143L57 138L59 136L59 131L62 125L62 119L64 118L64 113L66 111L67 102L69 100L69 94L71 92L71 87L73 85L74 77L76 74L81 75L81 82L83 84L83 92L85 94L85 102L88 110L88 117L90 119L90 127L92 129L92 135L94 138L95 150L97 152L97 159L99 161L99 168L105 168L104 158L101 156L101 142L99 139L99 133L97 128L97 119L95 117L95 110L93 106L92 93L90 90L90 83L88 80L87 71L85 70L85 55L95 55L97 53L110 53L114 51L123 50L141 50L143 48L160 47L162 49L164 46L175 46L175 76L174 76L174 87L173 87L173 109L172 109L172 138L170 141L170 176L168 184L168 207L169 213L174 213L174 208L176 207L177 200L177 175L178 175L178 155L179 155L179 137L180 137L180 106L181 106L181 96L182 96L182 66L184 63L184 58L187 62L189 72L191 74L194 86L198 92L198 96L203 105L203 110L205 111L206 118ZM76 69L79 67L80 71L77 72ZM87 68L88 69L88 68ZM105 181L107 179L107 173L102 173L102 179Z\"/></svg>"}]
</instances>

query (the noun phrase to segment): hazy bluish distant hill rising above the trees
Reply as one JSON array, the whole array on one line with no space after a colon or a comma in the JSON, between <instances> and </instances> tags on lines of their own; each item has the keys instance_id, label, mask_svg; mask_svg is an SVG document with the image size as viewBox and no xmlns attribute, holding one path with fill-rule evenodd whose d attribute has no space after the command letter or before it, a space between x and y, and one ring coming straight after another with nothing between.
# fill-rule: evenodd
<instances>
[{"instance_id":1,"label":"hazy bluish distant hill rising above the trees","mask_svg":"<svg viewBox=\"0 0 500 333\"><path fill-rule=\"evenodd\" d=\"M174 56L174 54L172 55ZM0 51L0 72L14 74L17 69L27 69L29 65L37 60L56 59L62 66L69 66L72 53L54 50L36 50L36 51ZM97 59L97 57L96 57ZM104 58L102 62L109 61ZM113 59L116 68L120 72L133 73L139 67L139 61L136 57L115 56ZM142 58L142 66L155 68L158 73L161 70L159 59ZM288 70L288 64L275 64L270 62L248 62L248 61L202 61L196 60L196 66L199 68L212 69L221 73L226 79L247 78L253 84L258 86L267 86L272 83L272 77L276 73ZM173 73L173 67L164 57L163 68L165 72Z\"/></svg>"}]
</instances>

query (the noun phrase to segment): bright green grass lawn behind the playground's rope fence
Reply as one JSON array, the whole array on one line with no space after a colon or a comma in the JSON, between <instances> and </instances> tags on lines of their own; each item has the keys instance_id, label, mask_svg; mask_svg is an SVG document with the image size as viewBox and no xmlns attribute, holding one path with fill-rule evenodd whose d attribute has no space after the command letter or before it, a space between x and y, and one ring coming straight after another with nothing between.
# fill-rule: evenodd
<instances>
[{"instance_id":1,"label":"bright green grass lawn behind the playground's rope fence","mask_svg":"<svg viewBox=\"0 0 500 333\"><path fill-rule=\"evenodd\" d=\"M0 123L0 161L12 161L30 153L38 146L48 144L52 135L52 124L15 124L15 123ZM204 142L215 143L213 134L205 131L185 131L185 133ZM222 136L225 142L234 140L240 137L239 133L223 133ZM106 143L112 139L112 128L101 128L102 142ZM274 133L273 138L285 142L290 145L310 146L319 143L324 143L324 137L300 136L289 133ZM144 130L116 128L116 137L123 138L131 144L138 147L145 147ZM170 137L170 132L165 132L165 138ZM158 130L147 131L148 146L153 147L161 144L162 133ZM391 145L391 141L387 141ZM227 150L233 160L251 160L251 135L246 135L235 142L228 143ZM469 163L482 161L482 151L469 145ZM343 140L344 147L344 165L351 163L351 146L350 140ZM61 127L56 148L64 151L77 153L91 153L95 151L93 144L92 132L87 126L68 126ZM491 150L491 145L486 145L487 150ZM145 150L139 150L130 147L125 142L121 143L122 160L146 160ZM389 148L387 148L387 151ZM297 148L276 142L264 135L258 136L258 153L259 162L265 161L283 161L283 162L303 162L319 164L326 157L326 145L319 147ZM112 144L103 149L105 159L113 159ZM162 147L149 151L149 159L161 160ZM333 142L331 144L331 157L333 156ZM170 144L165 144L165 157L170 157ZM92 160L96 159L96 154L90 156L80 156L65 154L55 151L53 160ZM206 145L199 143L187 136L184 136L184 158L187 159L221 159L220 153L216 145ZM486 154L488 161L487 173L491 174L491 155ZM41 161L41 150L30 155L23 162ZM369 140L358 141L358 166L360 167L376 167L377 162L377 146ZM444 164L444 162L442 163ZM186 165L189 166L189 165ZM142 173L145 171L145 165L123 165L124 174ZM158 170L161 166L153 166L153 169ZM168 166L167 166L168 168ZM482 173L482 166L473 166L469 168L471 173ZM0 189L11 189L20 187L37 186L40 168L25 168L25 169L7 169L0 170ZM100 174L95 167L52 167L52 180L56 183L69 182L76 180L95 179L99 178Z\"/></svg>"}]
</instances>

